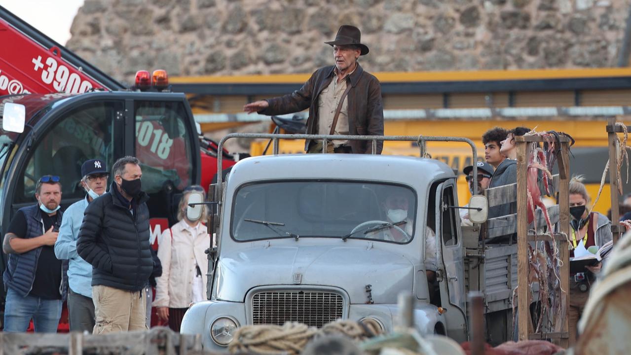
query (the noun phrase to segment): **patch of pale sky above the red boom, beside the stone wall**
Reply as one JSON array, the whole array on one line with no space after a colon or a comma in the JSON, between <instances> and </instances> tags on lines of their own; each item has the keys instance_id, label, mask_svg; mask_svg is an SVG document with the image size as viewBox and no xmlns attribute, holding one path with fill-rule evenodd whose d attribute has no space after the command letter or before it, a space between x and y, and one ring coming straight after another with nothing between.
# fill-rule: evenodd
<instances>
[{"instance_id":1,"label":"patch of pale sky above the red boom, beside the stone wall","mask_svg":"<svg viewBox=\"0 0 631 355\"><path fill-rule=\"evenodd\" d=\"M70 38L70 25L81 5L83 0L0 0L0 6L61 45Z\"/></svg>"}]
</instances>

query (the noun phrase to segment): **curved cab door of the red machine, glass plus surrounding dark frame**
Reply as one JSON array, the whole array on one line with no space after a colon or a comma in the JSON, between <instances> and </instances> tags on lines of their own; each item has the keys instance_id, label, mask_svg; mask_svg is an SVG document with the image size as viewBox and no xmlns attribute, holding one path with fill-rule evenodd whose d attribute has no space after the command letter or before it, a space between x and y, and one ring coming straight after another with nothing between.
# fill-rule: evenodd
<instances>
[{"instance_id":1,"label":"curved cab door of the red machine, glass plus surrounding dark frame","mask_svg":"<svg viewBox=\"0 0 631 355\"><path fill-rule=\"evenodd\" d=\"M122 136L122 112L122 100L92 100L42 118L46 127L33 134L32 147L21 147L16 154L16 170L7 185L13 194L11 215L35 203L35 184L42 175L59 176L64 208L85 197L81 165L98 158L112 166L123 149L122 140L115 139Z\"/></svg>"}]
</instances>

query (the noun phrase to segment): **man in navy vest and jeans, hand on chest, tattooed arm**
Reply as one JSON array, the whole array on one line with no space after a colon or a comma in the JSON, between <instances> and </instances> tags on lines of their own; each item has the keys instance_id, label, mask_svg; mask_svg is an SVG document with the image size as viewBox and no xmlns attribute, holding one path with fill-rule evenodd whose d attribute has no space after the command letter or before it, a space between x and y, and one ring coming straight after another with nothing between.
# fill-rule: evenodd
<instances>
[{"instance_id":1,"label":"man in navy vest and jeans, hand on chest, tattooed arm","mask_svg":"<svg viewBox=\"0 0 631 355\"><path fill-rule=\"evenodd\" d=\"M62 217L59 177L40 178L35 199L37 204L15 214L4 235L5 332L25 332L31 319L35 332L57 332L61 317L62 262L53 248Z\"/></svg>"}]
</instances>

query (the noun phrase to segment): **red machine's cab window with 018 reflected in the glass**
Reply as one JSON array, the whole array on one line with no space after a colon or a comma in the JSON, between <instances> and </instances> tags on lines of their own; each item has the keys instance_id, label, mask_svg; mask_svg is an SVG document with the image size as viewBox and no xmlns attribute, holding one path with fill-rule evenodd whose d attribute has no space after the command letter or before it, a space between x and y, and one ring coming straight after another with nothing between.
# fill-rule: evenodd
<instances>
[{"instance_id":1,"label":"red machine's cab window with 018 reflected in the glass","mask_svg":"<svg viewBox=\"0 0 631 355\"><path fill-rule=\"evenodd\" d=\"M136 102L134 117L136 158L143 169L143 190L148 194L160 192L168 181L178 190L191 185L191 141L184 105Z\"/></svg>"}]
</instances>

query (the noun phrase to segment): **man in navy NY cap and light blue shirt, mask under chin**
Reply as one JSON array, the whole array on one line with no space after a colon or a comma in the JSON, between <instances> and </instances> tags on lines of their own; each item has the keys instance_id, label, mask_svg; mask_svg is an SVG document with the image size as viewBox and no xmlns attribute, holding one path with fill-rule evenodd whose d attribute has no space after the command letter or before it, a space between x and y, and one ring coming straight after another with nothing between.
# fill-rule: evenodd
<instances>
[{"instance_id":1,"label":"man in navy NY cap and light blue shirt, mask under chin","mask_svg":"<svg viewBox=\"0 0 631 355\"><path fill-rule=\"evenodd\" d=\"M68 268L68 319L72 332L91 332L94 329L94 303L92 301L92 265L77 253L77 239L83 221L83 212L88 204L105 194L109 173L105 162L91 159L81 165L81 187L85 199L71 204L61 222L59 236L55 242L55 255L59 260L69 260Z\"/></svg>"}]
</instances>

